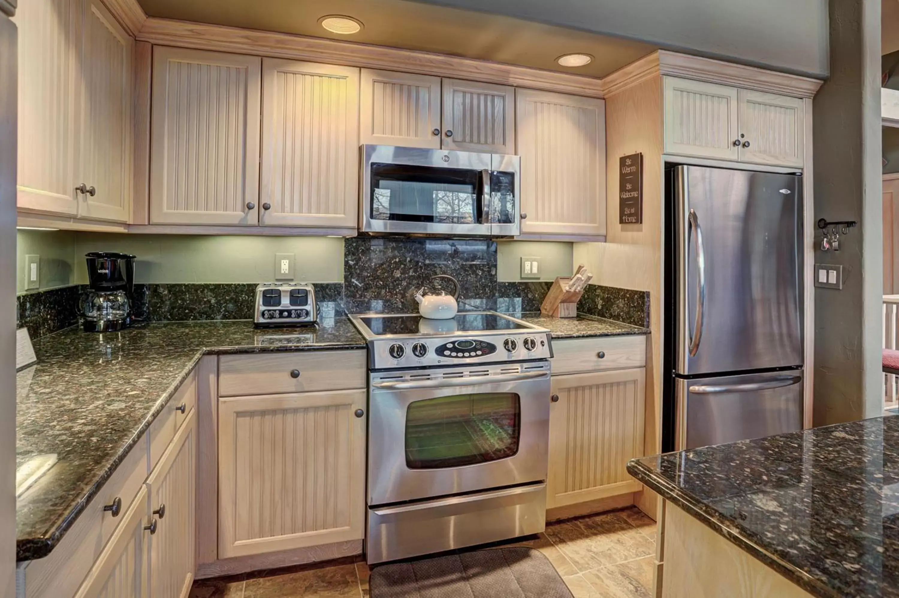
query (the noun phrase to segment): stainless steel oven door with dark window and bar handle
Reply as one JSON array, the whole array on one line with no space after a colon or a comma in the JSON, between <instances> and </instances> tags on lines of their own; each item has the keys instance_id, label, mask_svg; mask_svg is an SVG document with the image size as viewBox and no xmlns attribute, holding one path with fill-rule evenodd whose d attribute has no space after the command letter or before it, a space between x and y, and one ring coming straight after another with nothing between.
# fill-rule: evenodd
<instances>
[{"instance_id":1,"label":"stainless steel oven door with dark window and bar handle","mask_svg":"<svg viewBox=\"0 0 899 598\"><path fill-rule=\"evenodd\" d=\"M547 478L549 364L376 372L369 506Z\"/></svg>"}]
</instances>

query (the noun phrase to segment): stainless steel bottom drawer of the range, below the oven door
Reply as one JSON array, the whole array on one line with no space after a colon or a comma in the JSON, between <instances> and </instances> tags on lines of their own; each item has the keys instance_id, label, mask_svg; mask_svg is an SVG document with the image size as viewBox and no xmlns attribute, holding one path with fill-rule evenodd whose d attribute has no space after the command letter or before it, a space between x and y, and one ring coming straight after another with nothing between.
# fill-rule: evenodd
<instances>
[{"instance_id":1,"label":"stainless steel bottom drawer of the range, below the oven door","mask_svg":"<svg viewBox=\"0 0 899 598\"><path fill-rule=\"evenodd\" d=\"M507 540L546 527L547 485L369 508L369 565Z\"/></svg>"}]
</instances>

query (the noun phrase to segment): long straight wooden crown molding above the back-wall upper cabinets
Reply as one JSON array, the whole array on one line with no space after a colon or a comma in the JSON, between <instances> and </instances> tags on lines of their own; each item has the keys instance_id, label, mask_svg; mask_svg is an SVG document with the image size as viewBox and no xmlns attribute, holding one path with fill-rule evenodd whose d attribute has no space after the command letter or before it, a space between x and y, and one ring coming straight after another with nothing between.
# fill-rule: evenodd
<instances>
[{"instance_id":1,"label":"long straight wooden crown molding above the back-wall upper cabinets","mask_svg":"<svg viewBox=\"0 0 899 598\"><path fill-rule=\"evenodd\" d=\"M133 2L134 0L117 1ZM602 81L593 77L289 33L255 31L149 17L140 28L137 39L180 48L208 49L271 58L311 60L348 67L458 77L470 81L516 85L595 98L602 97Z\"/></svg>"}]
</instances>

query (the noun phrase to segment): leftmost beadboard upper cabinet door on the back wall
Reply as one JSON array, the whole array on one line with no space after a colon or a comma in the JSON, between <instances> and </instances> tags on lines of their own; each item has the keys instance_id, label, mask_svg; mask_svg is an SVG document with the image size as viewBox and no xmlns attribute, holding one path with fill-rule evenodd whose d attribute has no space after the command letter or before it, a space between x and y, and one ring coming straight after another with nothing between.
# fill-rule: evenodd
<instances>
[{"instance_id":1,"label":"leftmost beadboard upper cabinet door on the back wall","mask_svg":"<svg viewBox=\"0 0 899 598\"><path fill-rule=\"evenodd\" d=\"M150 223L257 225L262 58L153 49Z\"/></svg>"}]
</instances>

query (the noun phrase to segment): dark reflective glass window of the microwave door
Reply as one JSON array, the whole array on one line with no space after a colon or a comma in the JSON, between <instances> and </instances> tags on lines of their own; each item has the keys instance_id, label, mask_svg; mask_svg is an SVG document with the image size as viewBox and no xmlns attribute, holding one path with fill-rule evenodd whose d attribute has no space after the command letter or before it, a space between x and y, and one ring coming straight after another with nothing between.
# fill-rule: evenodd
<instances>
[{"instance_id":1,"label":"dark reflective glass window of the microwave door","mask_svg":"<svg viewBox=\"0 0 899 598\"><path fill-rule=\"evenodd\" d=\"M375 163L369 214L373 220L479 224L480 184L475 170Z\"/></svg>"}]
</instances>

